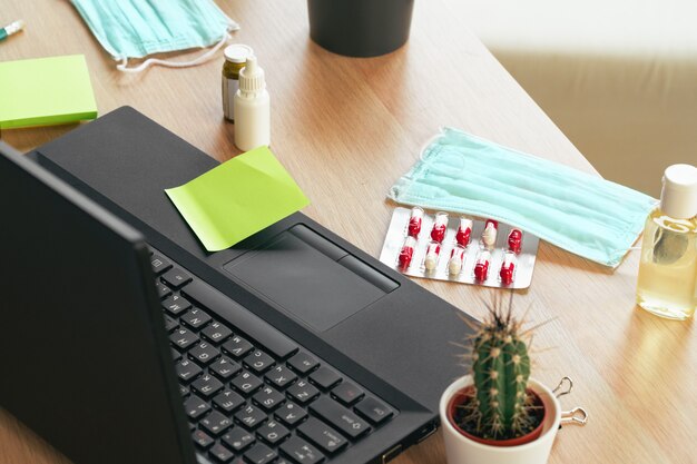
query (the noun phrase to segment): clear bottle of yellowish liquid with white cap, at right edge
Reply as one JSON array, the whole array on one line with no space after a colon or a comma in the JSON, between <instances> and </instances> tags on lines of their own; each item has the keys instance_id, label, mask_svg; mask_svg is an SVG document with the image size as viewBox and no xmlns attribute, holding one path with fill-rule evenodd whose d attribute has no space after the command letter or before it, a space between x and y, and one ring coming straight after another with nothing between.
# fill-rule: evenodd
<instances>
[{"instance_id":1,"label":"clear bottle of yellowish liquid with white cap, at right edge","mask_svg":"<svg viewBox=\"0 0 697 464\"><path fill-rule=\"evenodd\" d=\"M685 320L697 307L697 168L673 165L664 175L660 205L646 220L637 304Z\"/></svg>"}]
</instances>

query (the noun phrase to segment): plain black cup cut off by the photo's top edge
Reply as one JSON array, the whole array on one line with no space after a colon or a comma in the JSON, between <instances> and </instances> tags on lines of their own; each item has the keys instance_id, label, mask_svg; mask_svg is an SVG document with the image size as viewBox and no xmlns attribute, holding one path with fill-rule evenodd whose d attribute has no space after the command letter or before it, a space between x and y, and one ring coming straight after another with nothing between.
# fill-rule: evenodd
<instances>
[{"instance_id":1,"label":"plain black cup cut off by the photo's top edge","mask_svg":"<svg viewBox=\"0 0 697 464\"><path fill-rule=\"evenodd\" d=\"M307 0L310 37L348 57L376 57L409 38L414 0Z\"/></svg>"}]
</instances>

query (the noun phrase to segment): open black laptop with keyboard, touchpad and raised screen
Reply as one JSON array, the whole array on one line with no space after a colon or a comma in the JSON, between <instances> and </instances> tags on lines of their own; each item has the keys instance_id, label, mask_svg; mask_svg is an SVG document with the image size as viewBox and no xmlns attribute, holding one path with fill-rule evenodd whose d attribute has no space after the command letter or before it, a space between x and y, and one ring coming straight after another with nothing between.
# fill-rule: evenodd
<instances>
[{"instance_id":1,"label":"open black laptop with keyboard, touchpad and raised screen","mask_svg":"<svg viewBox=\"0 0 697 464\"><path fill-rule=\"evenodd\" d=\"M302 214L206 253L217 164L132 108L0 142L0 406L76 464L385 463L438 427L461 313Z\"/></svg>"}]
</instances>

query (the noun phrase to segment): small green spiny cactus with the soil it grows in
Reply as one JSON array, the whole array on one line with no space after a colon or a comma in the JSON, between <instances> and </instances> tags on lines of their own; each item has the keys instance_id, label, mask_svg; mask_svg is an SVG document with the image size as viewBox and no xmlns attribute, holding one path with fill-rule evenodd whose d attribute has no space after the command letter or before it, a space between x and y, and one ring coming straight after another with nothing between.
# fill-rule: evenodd
<instances>
[{"instance_id":1,"label":"small green spiny cactus with the soil it grows in","mask_svg":"<svg viewBox=\"0 0 697 464\"><path fill-rule=\"evenodd\" d=\"M481 437L508 440L531 432L539 423L532 398L527 393L530 357L522 323L499 302L472 344L474 394L459 416L459 425Z\"/></svg>"}]
</instances>

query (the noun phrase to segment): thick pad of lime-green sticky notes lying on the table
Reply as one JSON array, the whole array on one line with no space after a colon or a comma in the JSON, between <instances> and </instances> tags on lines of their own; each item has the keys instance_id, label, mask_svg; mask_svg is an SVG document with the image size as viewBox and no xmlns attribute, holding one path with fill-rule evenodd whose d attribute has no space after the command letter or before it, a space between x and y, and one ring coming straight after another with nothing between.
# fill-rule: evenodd
<instances>
[{"instance_id":1,"label":"thick pad of lime-green sticky notes lying on the table","mask_svg":"<svg viewBox=\"0 0 697 464\"><path fill-rule=\"evenodd\" d=\"M0 62L0 129L97 117L82 55Z\"/></svg>"}]
</instances>

